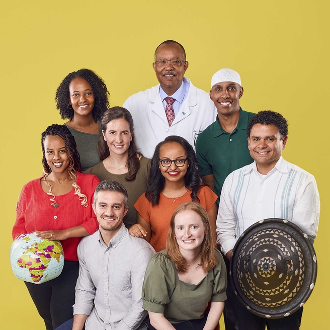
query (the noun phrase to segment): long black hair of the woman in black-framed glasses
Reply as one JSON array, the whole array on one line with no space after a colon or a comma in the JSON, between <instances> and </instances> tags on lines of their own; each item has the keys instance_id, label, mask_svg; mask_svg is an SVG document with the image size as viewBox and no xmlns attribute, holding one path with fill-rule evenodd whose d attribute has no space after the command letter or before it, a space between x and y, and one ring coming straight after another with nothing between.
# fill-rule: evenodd
<instances>
[{"instance_id":1,"label":"long black hair of the woman in black-framed glasses","mask_svg":"<svg viewBox=\"0 0 330 330\"><path fill-rule=\"evenodd\" d=\"M158 205L160 192L165 186L165 178L159 170L159 150L162 145L170 142L177 142L186 150L187 161L190 166L185 175L185 186L192 191L190 194L192 201L199 202L197 193L201 187L205 186L204 184L201 184L200 181L199 172L201 171L201 166L197 161L196 153L190 143L183 137L177 135L168 136L164 141L156 145L151 158L150 174L148 177L145 197L152 203L152 206Z\"/></svg>"}]
</instances>

